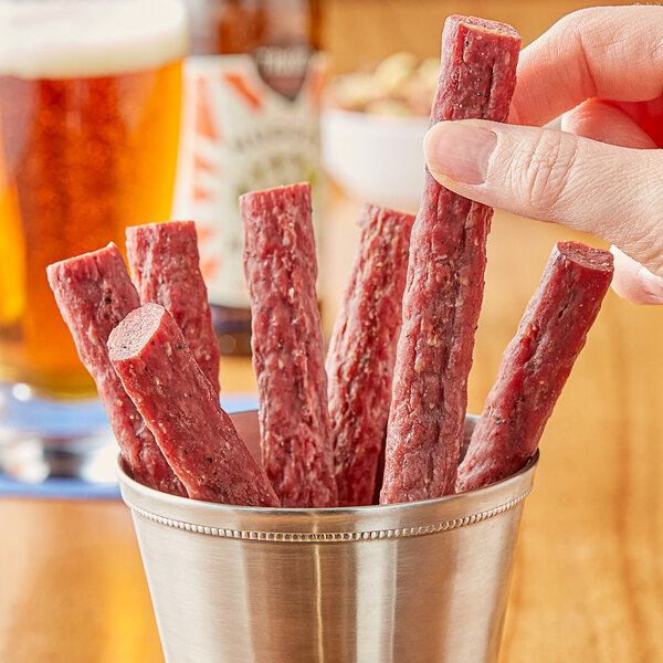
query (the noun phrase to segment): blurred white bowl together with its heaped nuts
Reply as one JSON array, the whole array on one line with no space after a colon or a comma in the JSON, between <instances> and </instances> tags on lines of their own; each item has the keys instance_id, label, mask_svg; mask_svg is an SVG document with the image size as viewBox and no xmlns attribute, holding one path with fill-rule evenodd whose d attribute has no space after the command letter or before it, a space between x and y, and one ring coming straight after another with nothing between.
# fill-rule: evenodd
<instances>
[{"instance_id":1,"label":"blurred white bowl together with its heaped nuts","mask_svg":"<svg viewBox=\"0 0 663 663\"><path fill-rule=\"evenodd\" d=\"M439 57L419 62L402 52L370 73L346 74L332 83L322 119L323 165L350 196L417 211L439 69Z\"/></svg>"}]
</instances>

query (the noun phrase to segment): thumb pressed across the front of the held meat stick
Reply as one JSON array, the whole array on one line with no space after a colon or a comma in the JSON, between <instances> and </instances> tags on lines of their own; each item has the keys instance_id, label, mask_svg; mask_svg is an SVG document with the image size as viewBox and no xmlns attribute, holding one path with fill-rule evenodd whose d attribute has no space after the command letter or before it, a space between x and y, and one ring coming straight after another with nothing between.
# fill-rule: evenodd
<instances>
[{"instance_id":1,"label":"thumb pressed across the front of the held meat stick","mask_svg":"<svg viewBox=\"0 0 663 663\"><path fill-rule=\"evenodd\" d=\"M663 275L663 150L476 119L434 125L424 149L452 191L588 232Z\"/></svg>"}]
</instances>

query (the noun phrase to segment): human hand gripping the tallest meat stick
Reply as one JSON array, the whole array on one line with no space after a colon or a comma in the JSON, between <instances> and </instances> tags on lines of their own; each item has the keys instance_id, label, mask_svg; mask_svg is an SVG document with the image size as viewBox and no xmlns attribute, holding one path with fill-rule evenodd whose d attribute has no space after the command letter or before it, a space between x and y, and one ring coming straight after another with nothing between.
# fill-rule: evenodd
<instances>
[{"instance_id":1,"label":"human hand gripping the tallest meat stick","mask_svg":"<svg viewBox=\"0 0 663 663\"><path fill-rule=\"evenodd\" d=\"M662 28L663 7L569 14L522 52L513 124L442 122L424 143L452 191L611 242L613 288L639 304L663 304Z\"/></svg>"}]
</instances>

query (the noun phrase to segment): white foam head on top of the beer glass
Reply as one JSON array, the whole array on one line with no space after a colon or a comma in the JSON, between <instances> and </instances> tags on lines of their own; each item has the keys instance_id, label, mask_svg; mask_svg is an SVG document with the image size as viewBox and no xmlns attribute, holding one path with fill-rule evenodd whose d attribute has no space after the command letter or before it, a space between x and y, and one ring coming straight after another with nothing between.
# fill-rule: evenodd
<instances>
[{"instance_id":1,"label":"white foam head on top of the beer glass","mask_svg":"<svg viewBox=\"0 0 663 663\"><path fill-rule=\"evenodd\" d=\"M178 0L0 1L0 75L106 76L156 69L188 48Z\"/></svg>"}]
</instances>

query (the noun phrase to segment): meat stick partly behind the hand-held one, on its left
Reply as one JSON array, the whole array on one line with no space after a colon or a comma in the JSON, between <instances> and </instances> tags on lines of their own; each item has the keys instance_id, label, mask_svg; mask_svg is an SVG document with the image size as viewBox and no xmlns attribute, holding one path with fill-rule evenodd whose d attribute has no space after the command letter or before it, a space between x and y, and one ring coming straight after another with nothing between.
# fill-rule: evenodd
<instances>
[{"instance_id":1,"label":"meat stick partly behind the hand-held one, on its left","mask_svg":"<svg viewBox=\"0 0 663 663\"><path fill-rule=\"evenodd\" d=\"M371 204L327 351L339 506L371 504L385 442L414 217Z\"/></svg>"}]
</instances>

